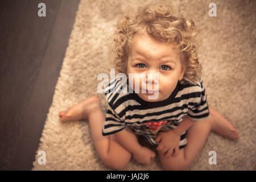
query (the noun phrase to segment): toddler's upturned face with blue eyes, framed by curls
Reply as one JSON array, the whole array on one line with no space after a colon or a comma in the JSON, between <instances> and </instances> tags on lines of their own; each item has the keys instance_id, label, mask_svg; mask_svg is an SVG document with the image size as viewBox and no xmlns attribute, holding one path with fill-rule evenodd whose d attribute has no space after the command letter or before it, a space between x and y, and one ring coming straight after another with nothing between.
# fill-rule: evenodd
<instances>
[{"instance_id":1,"label":"toddler's upturned face with blue eyes, framed by curls","mask_svg":"<svg viewBox=\"0 0 256 182\"><path fill-rule=\"evenodd\" d=\"M139 80L139 93L137 94L144 101L156 102L163 101L171 95L178 80L183 78L184 68L181 65L179 54L172 46L157 42L144 33L135 36L132 40L127 62L127 74L129 73L144 73L146 77ZM152 73L152 76L149 76L148 73ZM158 80L155 79L154 74L158 74ZM158 92L158 98L155 100L148 99L152 90L142 88L142 81L147 85L147 88L148 82L152 82L152 89L154 94ZM135 84L135 78L133 83ZM133 89L135 89L134 84ZM158 90L156 90L156 85ZM147 92L142 93L142 89L147 90Z\"/></svg>"}]
</instances>

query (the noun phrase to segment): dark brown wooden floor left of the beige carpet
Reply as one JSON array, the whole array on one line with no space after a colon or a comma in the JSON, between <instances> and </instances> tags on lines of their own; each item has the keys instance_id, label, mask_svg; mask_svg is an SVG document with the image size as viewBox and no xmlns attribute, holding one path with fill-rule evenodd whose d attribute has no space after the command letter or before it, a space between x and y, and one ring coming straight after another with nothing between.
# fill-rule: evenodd
<instances>
[{"instance_id":1,"label":"dark brown wooden floor left of the beige carpet","mask_svg":"<svg viewBox=\"0 0 256 182\"><path fill-rule=\"evenodd\" d=\"M78 5L0 1L0 170L32 169Z\"/></svg>"}]
</instances>

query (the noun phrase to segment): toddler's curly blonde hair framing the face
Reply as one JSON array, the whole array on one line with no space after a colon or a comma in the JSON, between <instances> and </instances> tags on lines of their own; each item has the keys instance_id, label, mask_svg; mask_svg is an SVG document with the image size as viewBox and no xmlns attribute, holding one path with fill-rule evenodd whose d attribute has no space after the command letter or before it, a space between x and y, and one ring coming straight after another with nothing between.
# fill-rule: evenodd
<instances>
[{"instance_id":1,"label":"toddler's curly blonde hair framing the face","mask_svg":"<svg viewBox=\"0 0 256 182\"><path fill-rule=\"evenodd\" d=\"M126 15L119 20L115 32L114 49L115 69L125 73L131 40L138 32L146 30L147 34L159 42L172 44L180 53L181 64L185 71L181 84L197 82L201 77L201 64L196 52L196 30L193 20L185 19L175 13L172 6L164 2L138 7L137 14Z\"/></svg>"}]
</instances>

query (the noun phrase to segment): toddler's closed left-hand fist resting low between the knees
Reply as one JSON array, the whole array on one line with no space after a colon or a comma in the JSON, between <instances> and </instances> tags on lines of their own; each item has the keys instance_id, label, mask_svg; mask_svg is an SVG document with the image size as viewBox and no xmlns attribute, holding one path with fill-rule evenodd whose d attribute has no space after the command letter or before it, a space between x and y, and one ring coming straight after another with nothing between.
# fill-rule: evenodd
<instances>
[{"instance_id":1,"label":"toddler's closed left-hand fist resting low between the knees","mask_svg":"<svg viewBox=\"0 0 256 182\"><path fill-rule=\"evenodd\" d=\"M133 158L139 163L150 164L151 159L155 158L155 152L151 151L147 147L142 146L137 153L133 154Z\"/></svg>"}]
</instances>

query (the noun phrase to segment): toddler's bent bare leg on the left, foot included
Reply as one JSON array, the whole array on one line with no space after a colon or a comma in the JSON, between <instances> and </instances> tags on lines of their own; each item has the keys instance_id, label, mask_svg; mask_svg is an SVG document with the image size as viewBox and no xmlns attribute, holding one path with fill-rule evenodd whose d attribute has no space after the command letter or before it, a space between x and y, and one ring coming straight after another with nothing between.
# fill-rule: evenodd
<instances>
[{"instance_id":1,"label":"toddler's bent bare leg on the left, foot included","mask_svg":"<svg viewBox=\"0 0 256 182\"><path fill-rule=\"evenodd\" d=\"M93 144L100 159L110 168L122 169L129 163L131 154L115 139L115 135L103 136L102 127L105 116L97 97L89 97L68 111L59 113L61 121L88 119Z\"/></svg>"}]
</instances>

